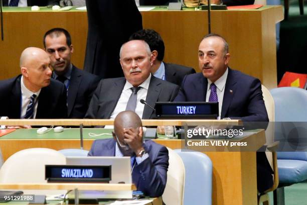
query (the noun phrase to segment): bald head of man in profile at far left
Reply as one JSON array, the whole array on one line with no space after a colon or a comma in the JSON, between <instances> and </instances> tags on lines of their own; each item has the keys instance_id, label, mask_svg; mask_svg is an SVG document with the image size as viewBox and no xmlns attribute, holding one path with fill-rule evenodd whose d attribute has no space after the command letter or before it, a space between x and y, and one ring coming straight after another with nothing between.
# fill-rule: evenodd
<instances>
[{"instance_id":1,"label":"bald head of man in profile at far left","mask_svg":"<svg viewBox=\"0 0 307 205\"><path fill-rule=\"evenodd\" d=\"M43 49L26 48L20 57L20 68L23 82L32 92L37 92L50 84L50 58Z\"/></svg>"}]
</instances>

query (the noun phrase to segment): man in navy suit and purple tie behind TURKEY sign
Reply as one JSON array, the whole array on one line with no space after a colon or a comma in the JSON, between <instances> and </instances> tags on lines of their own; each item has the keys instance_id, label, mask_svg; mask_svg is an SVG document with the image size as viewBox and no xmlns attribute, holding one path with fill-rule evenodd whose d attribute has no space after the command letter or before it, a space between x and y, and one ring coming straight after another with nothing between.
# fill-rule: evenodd
<instances>
[{"instance_id":1,"label":"man in navy suit and purple tie behind TURKEY sign","mask_svg":"<svg viewBox=\"0 0 307 205\"><path fill-rule=\"evenodd\" d=\"M268 122L261 82L228 68L228 44L221 36L209 34L199 45L202 73L187 75L174 101L218 101L220 119ZM273 184L272 169L264 152L257 152L257 185L263 192Z\"/></svg>"}]
</instances>

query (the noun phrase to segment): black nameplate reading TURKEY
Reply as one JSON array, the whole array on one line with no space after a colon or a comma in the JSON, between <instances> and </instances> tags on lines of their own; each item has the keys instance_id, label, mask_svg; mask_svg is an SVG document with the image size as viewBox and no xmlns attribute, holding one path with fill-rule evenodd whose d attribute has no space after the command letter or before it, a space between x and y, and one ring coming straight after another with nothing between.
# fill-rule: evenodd
<instances>
[{"instance_id":1,"label":"black nameplate reading TURKEY","mask_svg":"<svg viewBox=\"0 0 307 205\"><path fill-rule=\"evenodd\" d=\"M156 102L159 119L216 119L218 113L218 102Z\"/></svg>"}]
</instances>

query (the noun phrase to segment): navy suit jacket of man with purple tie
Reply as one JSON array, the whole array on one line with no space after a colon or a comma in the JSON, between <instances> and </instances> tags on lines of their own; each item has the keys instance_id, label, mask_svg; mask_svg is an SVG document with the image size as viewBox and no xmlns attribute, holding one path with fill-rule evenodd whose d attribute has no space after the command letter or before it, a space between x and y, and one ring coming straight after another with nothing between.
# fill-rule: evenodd
<instances>
[{"instance_id":1,"label":"navy suit jacket of man with purple tie","mask_svg":"<svg viewBox=\"0 0 307 205\"><path fill-rule=\"evenodd\" d=\"M208 79L203 73L187 75L174 101L206 101ZM221 119L268 122L259 79L228 68Z\"/></svg>"}]
</instances>

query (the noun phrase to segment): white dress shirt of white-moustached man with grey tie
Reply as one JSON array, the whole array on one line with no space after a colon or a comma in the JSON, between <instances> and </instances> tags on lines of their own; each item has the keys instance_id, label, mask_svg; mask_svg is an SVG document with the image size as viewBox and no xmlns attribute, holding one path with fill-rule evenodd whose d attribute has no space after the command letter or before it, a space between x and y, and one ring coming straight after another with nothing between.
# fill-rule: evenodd
<instances>
[{"instance_id":1,"label":"white dress shirt of white-moustached man with grey tie","mask_svg":"<svg viewBox=\"0 0 307 205\"><path fill-rule=\"evenodd\" d=\"M137 92L135 113L138 115L140 119L142 119L143 117L143 111L145 105L141 104L139 100L140 99L146 100L150 78L151 74L149 74L148 78L139 85L139 87L141 88ZM118 99L118 102L116 104L113 113L111 114L110 119L115 119L118 113L126 110L128 99L132 93L132 90L130 89L131 87L133 87L133 85L126 80L126 83L121 91L120 97Z\"/></svg>"}]
</instances>

